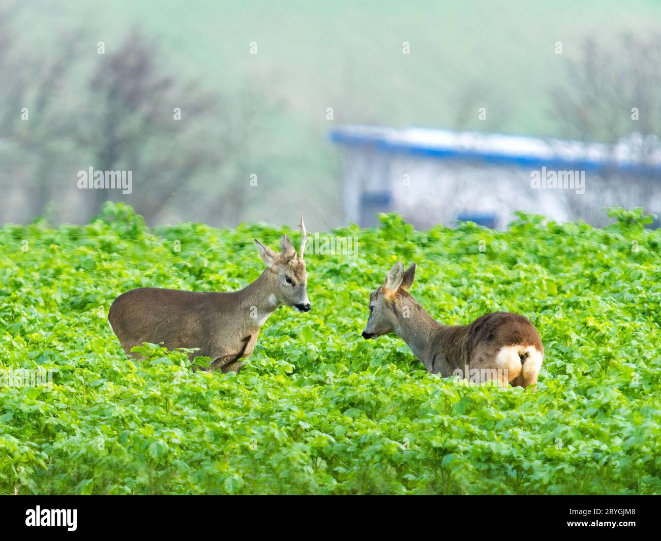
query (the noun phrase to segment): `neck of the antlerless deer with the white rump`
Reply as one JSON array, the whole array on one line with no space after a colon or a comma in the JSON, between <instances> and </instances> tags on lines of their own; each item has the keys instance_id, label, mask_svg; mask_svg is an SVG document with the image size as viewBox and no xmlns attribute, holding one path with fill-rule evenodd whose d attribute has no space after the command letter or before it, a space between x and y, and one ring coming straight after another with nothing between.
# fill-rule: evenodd
<instances>
[{"instance_id":1,"label":"neck of the antlerless deer with the white rump","mask_svg":"<svg viewBox=\"0 0 661 541\"><path fill-rule=\"evenodd\" d=\"M408 293L400 294L398 301L395 333L407 343L418 361L430 369L435 353L432 338L442 325Z\"/></svg>"}]
</instances>

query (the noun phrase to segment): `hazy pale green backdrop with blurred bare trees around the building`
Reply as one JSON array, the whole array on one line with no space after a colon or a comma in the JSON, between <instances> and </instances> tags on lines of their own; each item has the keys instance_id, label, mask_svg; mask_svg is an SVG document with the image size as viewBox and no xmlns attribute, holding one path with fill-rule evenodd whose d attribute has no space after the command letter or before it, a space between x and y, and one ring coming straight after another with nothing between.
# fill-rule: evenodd
<instances>
[{"instance_id":1,"label":"hazy pale green backdrop with blurred bare trees around the building","mask_svg":"<svg viewBox=\"0 0 661 541\"><path fill-rule=\"evenodd\" d=\"M654 0L2 0L0 221L114 199L150 225L337 227L340 123L615 141L635 102L659 135L660 20ZM77 190L89 166L134 192Z\"/></svg>"}]
</instances>

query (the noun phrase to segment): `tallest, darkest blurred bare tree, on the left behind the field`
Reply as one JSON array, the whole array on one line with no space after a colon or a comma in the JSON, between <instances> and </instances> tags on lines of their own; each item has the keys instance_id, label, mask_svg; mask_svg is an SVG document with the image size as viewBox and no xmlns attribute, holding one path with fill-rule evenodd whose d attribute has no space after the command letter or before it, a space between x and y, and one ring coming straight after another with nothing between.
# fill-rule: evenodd
<instances>
[{"instance_id":1,"label":"tallest, darkest blurred bare tree, on the left behind the field","mask_svg":"<svg viewBox=\"0 0 661 541\"><path fill-rule=\"evenodd\" d=\"M197 83L166 75L162 64L155 43L138 30L116 51L100 55L90 81L88 119L78 132L97 170L132 170L127 199L148 221L201 170L217 169L227 151L202 122L217 117L217 99ZM108 190L94 194L95 209L106 199L124 197Z\"/></svg>"}]
</instances>

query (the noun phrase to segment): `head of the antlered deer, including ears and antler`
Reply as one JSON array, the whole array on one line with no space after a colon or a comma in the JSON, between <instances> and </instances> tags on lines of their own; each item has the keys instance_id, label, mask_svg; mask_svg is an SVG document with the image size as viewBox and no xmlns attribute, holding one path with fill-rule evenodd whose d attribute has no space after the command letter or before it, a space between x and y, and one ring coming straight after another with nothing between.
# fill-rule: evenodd
<instances>
[{"instance_id":1,"label":"head of the antlered deer, including ears and antler","mask_svg":"<svg viewBox=\"0 0 661 541\"><path fill-rule=\"evenodd\" d=\"M273 274L276 281L273 294L276 296L277 304L288 305L289 307L298 308L301 312L307 312L311 307L307 298L307 271L305 271L305 260L303 259L307 231L305 231L302 216L299 227L303 233L303 238L298 255L292 241L286 234L280 238L280 250L282 250L280 253L264 246L257 239L254 239L254 243L257 246L260 258L262 258L268 271Z\"/></svg>"}]
</instances>

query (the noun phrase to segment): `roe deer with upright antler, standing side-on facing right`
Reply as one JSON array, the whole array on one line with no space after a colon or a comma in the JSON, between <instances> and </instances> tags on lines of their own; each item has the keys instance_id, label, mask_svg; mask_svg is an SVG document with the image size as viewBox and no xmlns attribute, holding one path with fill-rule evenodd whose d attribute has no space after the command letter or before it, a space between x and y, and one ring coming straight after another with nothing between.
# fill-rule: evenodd
<instances>
[{"instance_id":1,"label":"roe deer with upright antler, standing side-on facing right","mask_svg":"<svg viewBox=\"0 0 661 541\"><path fill-rule=\"evenodd\" d=\"M206 370L238 372L253 353L259 329L280 305L310 309L307 299L305 224L299 225L303 240L299 255L287 235L280 238L282 253L254 243L266 264L253 283L229 293L177 291L140 287L117 297L108 311L108 321L127 355L143 342L163 343L168 349L198 347L191 358L211 357Z\"/></svg>"}]
</instances>

